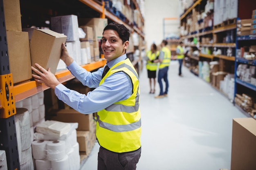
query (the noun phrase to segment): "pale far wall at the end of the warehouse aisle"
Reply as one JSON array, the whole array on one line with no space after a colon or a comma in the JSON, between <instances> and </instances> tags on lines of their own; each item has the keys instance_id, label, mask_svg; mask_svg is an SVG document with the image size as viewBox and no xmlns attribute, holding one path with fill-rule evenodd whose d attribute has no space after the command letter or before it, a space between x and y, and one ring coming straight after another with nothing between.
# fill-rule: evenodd
<instances>
[{"instance_id":1,"label":"pale far wall at the end of the warehouse aisle","mask_svg":"<svg viewBox=\"0 0 256 170\"><path fill-rule=\"evenodd\" d=\"M144 31L147 49L155 42L157 45L163 40L164 18L178 18L165 20L165 33L179 33L179 0L145 0Z\"/></svg>"}]
</instances>

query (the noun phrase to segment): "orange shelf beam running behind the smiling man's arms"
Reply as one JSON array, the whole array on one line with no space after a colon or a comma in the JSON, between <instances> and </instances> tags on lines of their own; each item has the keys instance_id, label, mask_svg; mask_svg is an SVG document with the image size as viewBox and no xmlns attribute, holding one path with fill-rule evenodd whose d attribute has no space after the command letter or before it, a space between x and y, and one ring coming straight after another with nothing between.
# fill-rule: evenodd
<instances>
[{"instance_id":1,"label":"orange shelf beam running behind the smiling man's arms","mask_svg":"<svg viewBox=\"0 0 256 170\"><path fill-rule=\"evenodd\" d=\"M87 71L93 71L97 68L101 68L106 64L106 60L100 60L90 64L82 65ZM64 83L74 78L69 70L57 71L55 74L59 82ZM13 94L15 96L15 101L18 102L22 99L35 95L41 91L45 91L49 87L44 84L39 84L36 81L29 81L22 84L18 84L13 87Z\"/></svg>"}]
</instances>

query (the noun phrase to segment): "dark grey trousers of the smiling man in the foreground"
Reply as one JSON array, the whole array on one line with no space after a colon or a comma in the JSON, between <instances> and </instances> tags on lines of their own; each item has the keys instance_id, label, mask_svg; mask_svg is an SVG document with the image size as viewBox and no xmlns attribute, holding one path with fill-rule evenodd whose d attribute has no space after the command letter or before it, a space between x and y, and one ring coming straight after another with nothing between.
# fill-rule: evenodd
<instances>
[{"instance_id":1,"label":"dark grey trousers of the smiling man in the foreground","mask_svg":"<svg viewBox=\"0 0 256 170\"><path fill-rule=\"evenodd\" d=\"M116 153L100 147L98 170L136 170L140 154L141 148L132 152Z\"/></svg>"}]
</instances>

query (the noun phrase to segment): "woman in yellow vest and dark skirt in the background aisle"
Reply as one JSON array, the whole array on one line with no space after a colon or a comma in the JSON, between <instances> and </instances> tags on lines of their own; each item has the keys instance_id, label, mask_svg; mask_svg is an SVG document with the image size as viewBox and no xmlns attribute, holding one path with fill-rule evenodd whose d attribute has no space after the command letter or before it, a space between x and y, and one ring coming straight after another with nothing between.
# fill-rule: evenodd
<instances>
[{"instance_id":1,"label":"woman in yellow vest and dark skirt in the background aisle","mask_svg":"<svg viewBox=\"0 0 256 170\"><path fill-rule=\"evenodd\" d=\"M155 78L156 78L156 74L157 74L157 62L154 62L154 60L156 60L159 55L159 51L157 51L156 44L151 45L151 49L150 49L150 51L147 52L146 55L147 55L146 69L148 71L149 86L150 86L149 93L154 94L155 93ZM153 79L153 88L152 88L152 79Z\"/></svg>"}]
</instances>

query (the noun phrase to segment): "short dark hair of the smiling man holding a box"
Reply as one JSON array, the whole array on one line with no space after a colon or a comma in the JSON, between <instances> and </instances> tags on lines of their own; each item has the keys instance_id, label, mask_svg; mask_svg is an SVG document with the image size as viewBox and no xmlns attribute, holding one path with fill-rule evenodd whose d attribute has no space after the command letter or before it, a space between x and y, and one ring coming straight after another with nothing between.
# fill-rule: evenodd
<instances>
[{"instance_id":1,"label":"short dark hair of the smiling man holding a box","mask_svg":"<svg viewBox=\"0 0 256 170\"><path fill-rule=\"evenodd\" d=\"M122 40L123 44L124 44L124 42L129 41L130 32L126 28L126 26L124 26L124 24L117 24L115 22L111 22L104 28L103 33L104 33L104 31L109 30L109 29L117 31L119 38Z\"/></svg>"}]
</instances>

